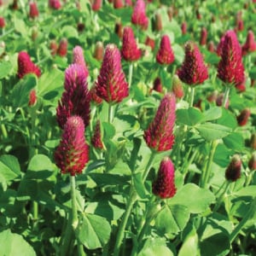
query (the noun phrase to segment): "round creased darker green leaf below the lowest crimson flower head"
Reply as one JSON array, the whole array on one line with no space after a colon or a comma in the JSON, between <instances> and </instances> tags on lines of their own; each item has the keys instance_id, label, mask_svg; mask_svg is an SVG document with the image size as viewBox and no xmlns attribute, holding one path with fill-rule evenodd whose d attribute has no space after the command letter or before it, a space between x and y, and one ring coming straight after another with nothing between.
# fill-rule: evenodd
<instances>
[{"instance_id":1,"label":"round creased darker green leaf below the lowest crimson flower head","mask_svg":"<svg viewBox=\"0 0 256 256\"><path fill-rule=\"evenodd\" d=\"M177 234L189 221L189 209L184 205L166 205L155 218L157 229L165 234Z\"/></svg>"}]
</instances>

